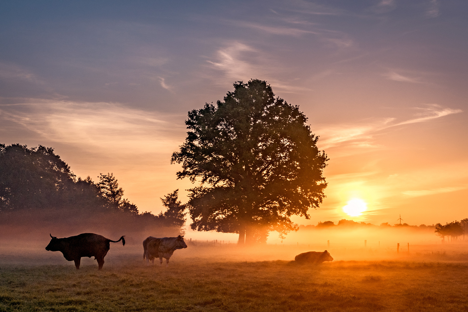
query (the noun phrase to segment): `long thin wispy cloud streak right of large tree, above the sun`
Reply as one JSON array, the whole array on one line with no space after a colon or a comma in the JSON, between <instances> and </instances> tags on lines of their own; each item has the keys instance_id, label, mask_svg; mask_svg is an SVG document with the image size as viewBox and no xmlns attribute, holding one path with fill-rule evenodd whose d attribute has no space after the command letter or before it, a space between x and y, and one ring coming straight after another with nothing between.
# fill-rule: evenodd
<instances>
[{"instance_id":1,"label":"long thin wispy cloud streak right of large tree, above the sun","mask_svg":"<svg viewBox=\"0 0 468 312\"><path fill-rule=\"evenodd\" d=\"M378 132L388 128L410 124L421 123L431 119L461 113L461 109L443 108L438 104L427 104L419 110L416 118L411 118L402 122L397 122L396 118L387 117L373 122L361 124L339 124L325 126L316 129L320 133L320 148L326 149L340 144L351 144L354 147L380 147L373 144L373 136Z\"/></svg>"}]
</instances>

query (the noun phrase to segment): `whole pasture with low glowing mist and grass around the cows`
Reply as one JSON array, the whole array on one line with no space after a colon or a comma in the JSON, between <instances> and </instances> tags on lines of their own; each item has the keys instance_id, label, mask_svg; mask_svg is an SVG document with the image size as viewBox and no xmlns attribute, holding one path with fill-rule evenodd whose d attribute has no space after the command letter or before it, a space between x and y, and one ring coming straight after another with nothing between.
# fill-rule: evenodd
<instances>
[{"instance_id":1,"label":"whole pasture with low glowing mist and grass around the cows","mask_svg":"<svg viewBox=\"0 0 468 312\"><path fill-rule=\"evenodd\" d=\"M76 270L44 249L49 239L2 241L0 311L468 311L461 241L398 253L330 244L335 260L313 266L294 256L326 242L238 247L187 238L188 248L160 267L143 261L140 239L111 243L102 271L92 258Z\"/></svg>"}]
</instances>

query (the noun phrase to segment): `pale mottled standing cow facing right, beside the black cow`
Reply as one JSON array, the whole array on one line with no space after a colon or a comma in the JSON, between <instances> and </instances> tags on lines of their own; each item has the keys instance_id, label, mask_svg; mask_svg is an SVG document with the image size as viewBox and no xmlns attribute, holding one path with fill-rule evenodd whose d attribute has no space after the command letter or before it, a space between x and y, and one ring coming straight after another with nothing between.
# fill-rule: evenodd
<instances>
[{"instance_id":1,"label":"pale mottled standing cow facing right, beside the black cow","mask_svg":"<svg viewBox=\"0 0 468 312\"><path fill-rule=\"evenodd\" d=\"M169 258L174 251L182 248L187 248L183 236L162 238L149 236L143 241L143 260L146 258L146 263L151 260L154 264L154 258L159 258L160 265L162 265L162 258L165 258L166 266L169 266Z\"/></svg>"}]
</instances>

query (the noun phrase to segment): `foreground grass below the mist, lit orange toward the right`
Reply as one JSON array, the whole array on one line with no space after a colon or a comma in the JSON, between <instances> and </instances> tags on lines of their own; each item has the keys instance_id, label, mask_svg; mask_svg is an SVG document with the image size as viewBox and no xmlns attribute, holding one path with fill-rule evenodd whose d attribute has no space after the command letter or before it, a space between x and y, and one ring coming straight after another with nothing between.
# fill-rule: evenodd
<instances>
[{"instance_id":1,"label":"foreground grass below the mist, lit orange toward the right","mask_svg":"<svg viewBox=\"0 0 468 312\"><path fill-rule=\"evenodd\" d=\"M468 264L0 265L0 311L468 311Z\"/></svg>"}]
</instances>

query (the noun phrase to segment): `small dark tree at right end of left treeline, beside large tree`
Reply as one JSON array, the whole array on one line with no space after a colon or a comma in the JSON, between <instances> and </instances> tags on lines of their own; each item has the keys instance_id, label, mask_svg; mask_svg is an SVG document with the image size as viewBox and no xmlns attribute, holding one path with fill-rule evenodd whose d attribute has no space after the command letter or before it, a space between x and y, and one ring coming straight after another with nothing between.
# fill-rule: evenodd
<instances>
[{"instance_id":1,"label":"small dark tree at right end of left treeline, beside large tree","mask_svg":"<svg viewBox=\"0 0 468 312\"><path fill-rule=\"evenodd\" d=\"M174 192L164 196L164 198L160 198L167 210L164 213L161 211L158 218L163 220L166 226L179 228L181 233L185 233L183 226L186 221L185 215L187 213L184 212L186 205L182 204L178 199L178 192L179 189L176 189Z\"/></svg>"}]
</instances>

